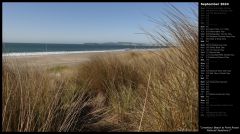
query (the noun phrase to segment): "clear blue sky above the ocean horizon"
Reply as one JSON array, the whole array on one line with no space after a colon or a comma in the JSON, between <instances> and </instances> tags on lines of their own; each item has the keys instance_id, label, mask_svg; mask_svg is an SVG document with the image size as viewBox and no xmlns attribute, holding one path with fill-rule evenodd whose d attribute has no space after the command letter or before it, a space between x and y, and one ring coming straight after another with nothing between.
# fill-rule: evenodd
<instances>
[{"instance_id":1,"label":"clear blue sky above the ocean horizon","mask_svg":"<svg viewBox=\"0 0 240 134\"><path fill-rule=\"evenodd\" d=\"M196 3L171 3L193 17ZM3 42L149 43L141 28L154 30L147 16L166 20L169 3L3 3Z\"/></svg>"}]
</instances>

